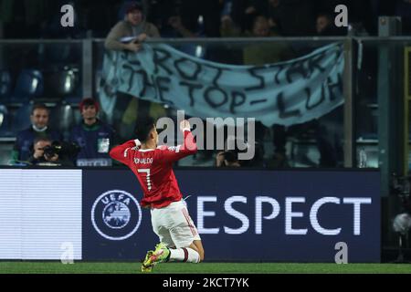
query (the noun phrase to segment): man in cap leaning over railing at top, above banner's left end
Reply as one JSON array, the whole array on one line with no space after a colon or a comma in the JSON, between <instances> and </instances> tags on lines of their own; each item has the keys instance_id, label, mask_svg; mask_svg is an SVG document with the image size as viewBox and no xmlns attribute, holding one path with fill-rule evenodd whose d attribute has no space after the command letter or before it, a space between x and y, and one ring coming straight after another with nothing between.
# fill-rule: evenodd
<instances>
[{"instance_id":1,"label":"man in cap leaning over railing at top, above banner's left end","mask_svg":"<svg viewBox=\"0 0 411 292\"><path fill-rule=\"evenodd\" d=\"M124 44L120 41L121 37L137 36L137 42L129 42ZM130 50L137 52L142 42L147 36L159 37L157 27L145 21L145 16L142 13L142 5L132 2L126 8L125 20L120 21L111 28L109 35L105 41L105 47L110 50Z\"/></svg>"}]
</instances>

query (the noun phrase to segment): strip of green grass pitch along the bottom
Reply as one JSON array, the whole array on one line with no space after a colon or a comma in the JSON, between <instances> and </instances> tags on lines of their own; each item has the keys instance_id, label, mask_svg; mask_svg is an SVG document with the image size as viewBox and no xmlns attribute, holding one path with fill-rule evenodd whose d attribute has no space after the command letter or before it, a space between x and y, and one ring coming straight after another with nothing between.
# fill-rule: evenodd
<instances>
[{"instance_id":1,"label":"strip of green grass pitch along the bottom","mask_svg":"<svg viewBox=\"0 0 411 292\"><path fill-rule=\"evenodd\" d=\"M140 274L140 263L0 262L0 274ZM408 264L283 264L283 263L167 263L155 266L155 274L411 274Z\"/></svg>"}]
</instances>

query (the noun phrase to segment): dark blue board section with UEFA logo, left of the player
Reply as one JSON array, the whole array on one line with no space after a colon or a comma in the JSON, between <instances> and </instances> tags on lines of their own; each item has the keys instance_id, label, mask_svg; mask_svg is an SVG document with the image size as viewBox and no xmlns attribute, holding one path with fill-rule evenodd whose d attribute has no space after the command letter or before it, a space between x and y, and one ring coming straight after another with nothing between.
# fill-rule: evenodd
<instances>
[{"instance_id":1,"label":"dark blue board section with UEFA logo, left of the player","mask_svg":"<svg viewBox=\"0 0 411 292\"><path fill-rule=\"evenodd\" d=\"M140 207L142 191L126 170L83 171L83 260L140 260L153 249L150 211Z\"/></svg>"}]
</instances>

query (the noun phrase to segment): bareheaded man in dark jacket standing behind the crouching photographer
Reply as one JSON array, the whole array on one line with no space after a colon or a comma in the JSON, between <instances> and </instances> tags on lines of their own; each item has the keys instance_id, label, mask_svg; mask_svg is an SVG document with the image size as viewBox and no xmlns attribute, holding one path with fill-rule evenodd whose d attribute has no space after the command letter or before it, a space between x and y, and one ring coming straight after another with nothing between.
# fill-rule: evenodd
<instances>
[{"instance_id":1,"label":"bareheaded man in dark jacket standing behind the crouching photographer","mask_svg":"<svg viewBox=\"0 0 411 292\"><path fill-rule=\"evenodd\" d=\"M48 138L52 141L61 141L61 134L57 130L48 128L49 111L45 104L38 103L31 110L31 126L17 134L16 143L12 152L12 162L26 162L30 155L33 141L37 138Z\"/></svg>"}]
</instances>

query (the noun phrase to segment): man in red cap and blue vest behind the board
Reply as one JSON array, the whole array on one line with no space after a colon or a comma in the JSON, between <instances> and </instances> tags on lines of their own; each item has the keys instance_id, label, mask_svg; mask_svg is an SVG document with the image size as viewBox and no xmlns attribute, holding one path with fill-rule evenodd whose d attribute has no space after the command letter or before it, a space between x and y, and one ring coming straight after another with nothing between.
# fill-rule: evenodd
<instances>
[{"instance_id":1,"label":"man in red cap and blue vest behind the board","mask_svg":"<svg viewBox=\"0 0 411 292\"><path fill-rule=\"evenodd\" d=\"M77 165L111 165L109 151L114 141L114 130L97 118L99 104L94 99L83 99L79 110L83 121L71 130L69 138L80 147Z\"/></svg>"}]
</instances>

